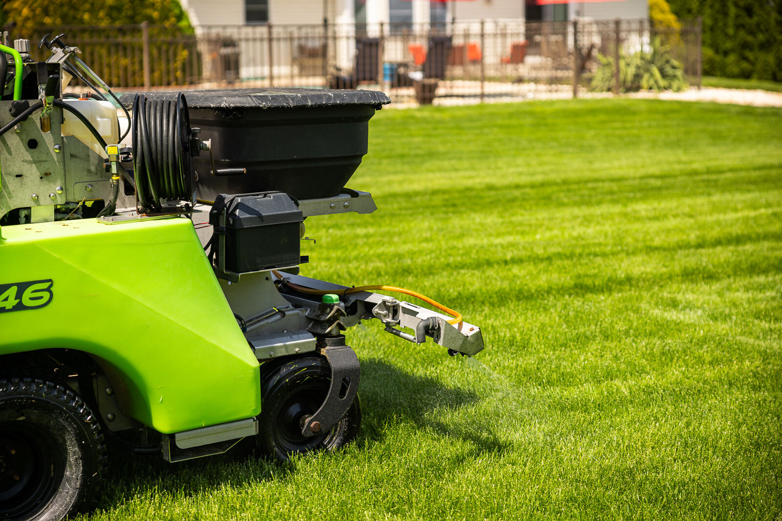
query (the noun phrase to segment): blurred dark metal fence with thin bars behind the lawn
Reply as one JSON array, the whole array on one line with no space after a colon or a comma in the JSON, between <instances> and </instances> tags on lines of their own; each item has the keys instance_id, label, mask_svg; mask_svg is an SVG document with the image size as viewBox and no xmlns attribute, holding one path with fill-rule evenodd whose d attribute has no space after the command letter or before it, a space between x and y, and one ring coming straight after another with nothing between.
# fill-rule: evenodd
<instances>
[{"instance_id":1,"label":"blurred dark metal fence with thin bars behind the lawn","mask_svg":"<svg viewBox=\"0 0 782 521\"><path fill-rule=\"evenodd\" d=\"M254 25L198 27L188 34L149 23L49 27L106 83L158 87L379 88L395 102L483 102L579 95L598 56L665 45L690 84L701 81L699 20L678 30L648 20L480 20L411 26ZM36 51L45 59L45 49ZM619 71L617 70L617 75Z\"/></svg>"}]
</instances>

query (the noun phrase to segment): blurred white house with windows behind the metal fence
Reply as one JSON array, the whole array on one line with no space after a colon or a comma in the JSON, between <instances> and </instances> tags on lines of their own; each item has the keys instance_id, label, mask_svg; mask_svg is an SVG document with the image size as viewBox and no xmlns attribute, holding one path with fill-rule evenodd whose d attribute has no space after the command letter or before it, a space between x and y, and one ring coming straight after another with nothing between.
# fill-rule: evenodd
<instances>
[{"instance_id":1,"label":"blurred white house with windows behind the metal fence","mask_svg":"<svg viewBox=\"0 0 782 521\"><path fill-rule=\"evenodd\" d=\"M400 36L402 31L414 38L430 27L452 30L454 45L461 41L466 48L468 42L476 45L475 34L481 20L486 20L488 32L508 33L501 45L482 50L484 59L499 63L511 52L513 42L525 39L526 21L648 16L647 0L181 0L181 4L201 37L199 51L206 57L207 71L220 78L280 77L282 82L292 80L294 73L322 77L327 66L352 68L357 34L378 37L382 31L387 36L384 59L404 62L410 59L411 40ZM572 41L567 34L563 38Z\"/></svg>"}]
</instances>

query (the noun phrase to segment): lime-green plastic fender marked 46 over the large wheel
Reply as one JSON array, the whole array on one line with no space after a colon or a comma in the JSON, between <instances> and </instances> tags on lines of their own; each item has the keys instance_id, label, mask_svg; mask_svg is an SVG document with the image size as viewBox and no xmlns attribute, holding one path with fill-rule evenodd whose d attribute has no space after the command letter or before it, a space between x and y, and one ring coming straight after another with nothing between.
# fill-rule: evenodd
<instances>
[{"instance_id":1,"label":"lime-green plastic fender marked 46 over the large wheel","mask_svg":"<svg viewBox=\"0 0 782 521\"><path fill-rule=\"evenodd\" d=\"M84 351L164 434L260 412L258 361L189 219L6 226L0 266L0 355Z\"/></svg>"}]
</instances>

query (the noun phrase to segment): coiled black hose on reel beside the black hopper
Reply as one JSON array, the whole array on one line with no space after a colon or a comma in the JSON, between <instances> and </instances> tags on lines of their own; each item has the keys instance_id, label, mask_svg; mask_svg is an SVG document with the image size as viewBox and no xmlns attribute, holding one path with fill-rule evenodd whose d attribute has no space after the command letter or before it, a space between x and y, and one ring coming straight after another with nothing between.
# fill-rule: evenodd
<instances>
[{"instance_id":1,"label":"coiled black hose on reel beside the black hopper","mask_svg":"<svg viewBox=\"0 0 782 521\"><path fill-rule=\"evenodd\" d=\"M133 98L133 170L138 204L160 211L162 201L189 201L192 179L188 147L188 105L176 100Z\"/></svg>"}]
</instances>

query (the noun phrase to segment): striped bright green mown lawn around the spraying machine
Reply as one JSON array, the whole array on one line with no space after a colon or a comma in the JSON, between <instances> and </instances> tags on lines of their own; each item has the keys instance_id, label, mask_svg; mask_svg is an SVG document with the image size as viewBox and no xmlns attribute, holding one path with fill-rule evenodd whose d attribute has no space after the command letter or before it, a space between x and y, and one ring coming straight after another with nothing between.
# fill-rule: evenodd
<instances>
[{"instance_id":1,"label":"striped bright green mown lawn around the spraying machine","mask_svg":"<svg viewBox=\"0 0 782 521\"><path fill-rule=\"evenodd\" d=\"M115 458L90 519L780 519L782 109L383 110L303 274L416 289L450 358L349 332L364 425L289 465ZM84 518L86 519L86 518Z\"/></svg>"}]
</instances>

